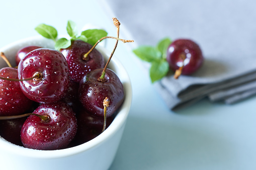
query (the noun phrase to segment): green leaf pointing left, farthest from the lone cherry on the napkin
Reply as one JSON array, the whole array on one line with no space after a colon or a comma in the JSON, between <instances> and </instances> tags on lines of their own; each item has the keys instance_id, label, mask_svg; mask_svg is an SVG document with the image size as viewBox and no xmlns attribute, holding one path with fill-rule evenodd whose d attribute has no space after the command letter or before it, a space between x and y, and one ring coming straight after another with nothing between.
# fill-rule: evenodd
<instances>
[{"instance_id":1,"label":"green leaf pointing left, farthest from the lone cherry on the napkin","mask_svg":"<svg viewBox=\"0 0 256 170\"><path fill-rule=\"evenodd\" d=\"M150 46L140 46L139 48L133 50L133 53L141 60L147 62L158 61L161 59L161 53L154 47Z\"/></svg>"}]
</instances>

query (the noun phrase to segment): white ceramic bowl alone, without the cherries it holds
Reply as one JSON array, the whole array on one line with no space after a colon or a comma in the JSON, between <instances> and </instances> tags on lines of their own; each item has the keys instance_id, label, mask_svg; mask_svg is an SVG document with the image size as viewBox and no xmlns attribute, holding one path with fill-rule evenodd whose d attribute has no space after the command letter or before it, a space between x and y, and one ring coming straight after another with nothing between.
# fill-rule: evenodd
<instances>
[{"instance_id":1,"label":"white ceramic bowl alone, without the cherries it holds","mask_svg":"<svg viewBox=\"0 0 256 170\"><path fill-rule=\"evenodd\" d=\"M25 46L53 48L53 42L41 37L27 38L0 49L15 65L16 52ZM108 59L110 52L97 49ZM0 59L0 68L7 67ZM115 157L132 101L131 82L122 64L113 57L110 66L125 90L125 100L111 125L99 136L81 145L61 150L35 150L18 146L0 136L0 169L108 169Z\"/></svg>"}]
</instances>

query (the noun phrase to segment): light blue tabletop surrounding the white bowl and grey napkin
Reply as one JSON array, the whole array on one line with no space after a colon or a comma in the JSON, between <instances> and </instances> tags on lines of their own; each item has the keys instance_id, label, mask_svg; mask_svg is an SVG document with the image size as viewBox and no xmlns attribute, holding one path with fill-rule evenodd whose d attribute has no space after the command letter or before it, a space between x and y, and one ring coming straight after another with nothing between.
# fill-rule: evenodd
<instances>
[{"instance_id":1,"label":"light blue tabletop surrounding the white bowl and grey napkin","mask_svg":"<svg viewBox=\"0 0 256 170\"><path fill-rule=\"evenodd\" d=\"M34 28L41 23L66 34L67 20L79 29L91 23L116 36L97 1L2 0L0 7L0 47L38 35ZM114 44L109 40L107 49ZM133 101L111 170L256 169L256 97L234 105L204 99L170 111L127 44L119 43L115 57L130 75Z\"/></svg>"}]
</instances>

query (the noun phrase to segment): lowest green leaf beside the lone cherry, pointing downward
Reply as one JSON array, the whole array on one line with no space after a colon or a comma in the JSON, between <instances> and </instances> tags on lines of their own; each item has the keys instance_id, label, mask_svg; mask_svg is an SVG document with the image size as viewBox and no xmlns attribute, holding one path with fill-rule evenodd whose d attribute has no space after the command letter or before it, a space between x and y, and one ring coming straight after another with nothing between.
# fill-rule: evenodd
<instances>
[{"instance_id":1,"label":"lowest green leaf beside the lone cherry, pointing downward","mask_svg":"<svg viewBox=\"0 0 256 170\"><path fill-rule=\"evenodd\" d=\"M150 68L151 82L153 83L163 78L167 74L168 70L169 70L169 65L167 61L160 60L160 61L152 62L152 65Z\"/></svg>"}]
</instances>

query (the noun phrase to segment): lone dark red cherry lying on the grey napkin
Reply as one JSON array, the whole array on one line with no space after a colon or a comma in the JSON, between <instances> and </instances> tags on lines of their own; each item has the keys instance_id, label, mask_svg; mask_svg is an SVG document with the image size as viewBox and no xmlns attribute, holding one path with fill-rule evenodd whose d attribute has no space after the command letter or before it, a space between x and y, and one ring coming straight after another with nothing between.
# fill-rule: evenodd
<instances>
[{"instance_id":1,"label":"lone dark red cherry lying on the grey napkin","mask_svg":"<svg viewBox=\"0 0 256 170\"><path fill-rule=\"evenodd\" d=\"M183 75L190 75L197 71L203 61L203 54L200 47L192 40L178 39L169 45L166 60L169 67L175 71L183 65L182 56L185 56Z\"/></svg>"}]
</instances>

